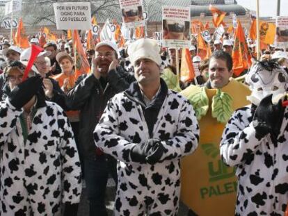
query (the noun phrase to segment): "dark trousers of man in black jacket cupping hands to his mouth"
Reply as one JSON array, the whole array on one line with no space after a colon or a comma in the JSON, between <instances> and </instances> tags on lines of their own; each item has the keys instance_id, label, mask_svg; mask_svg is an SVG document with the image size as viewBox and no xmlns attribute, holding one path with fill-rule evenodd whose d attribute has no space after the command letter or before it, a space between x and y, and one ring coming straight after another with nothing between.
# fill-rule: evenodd
<instances>
[{"instance_id":1,"label":"dark trousers of man in black jacket cupping hands to his mouth","mask_svg":"<svg viewBox=\"0 0 288 216\"><path fill-rule=\"evenodd\" d=\"M115 161L113 159L112 163L116 163ZM106 155L85 158L84 169L90 216L107 216L105 206L107 179L109 173L111 173L115 181L117 169L115 165L111 165L111 158Z\"/></svg>"}]
</instances>

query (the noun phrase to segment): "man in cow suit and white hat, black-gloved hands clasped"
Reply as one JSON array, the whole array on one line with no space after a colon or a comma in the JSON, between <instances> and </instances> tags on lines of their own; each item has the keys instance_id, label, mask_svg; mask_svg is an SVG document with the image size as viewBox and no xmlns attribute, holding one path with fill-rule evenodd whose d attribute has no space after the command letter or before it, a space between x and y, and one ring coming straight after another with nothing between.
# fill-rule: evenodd
<instances>
[{"instance_id":1,"label":"man in cow suit and white hat, black-gloved hands clasped","mask_svg":"<svg viewBox=\"0 0 288 216\"><path fill-rule=\"evenodd\" d=\"M193 107L160 78L157 42L128 48L137 82L116 94L95 128L97 146L118 159L115 215L177 215L180 165L198 145Z\"/></svg>"}]
</instances>

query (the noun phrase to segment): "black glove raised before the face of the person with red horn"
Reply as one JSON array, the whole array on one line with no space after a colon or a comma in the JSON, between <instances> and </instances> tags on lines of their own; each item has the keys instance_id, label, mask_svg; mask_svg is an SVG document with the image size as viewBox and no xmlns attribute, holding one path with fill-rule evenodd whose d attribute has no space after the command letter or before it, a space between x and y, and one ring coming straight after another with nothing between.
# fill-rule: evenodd
<instances>
[{"instance_id":1,"label":"black glove raised before the face of the person with red horn","mask_svg":"<svg viewBox=\"0 0 288 216\"><path fill-rule=\"evenodd\" d=\"M42 78L33 76L19 83L9 94L10 103L17 109L22 108L42 88Z\"/></svg>"}]
</instances>

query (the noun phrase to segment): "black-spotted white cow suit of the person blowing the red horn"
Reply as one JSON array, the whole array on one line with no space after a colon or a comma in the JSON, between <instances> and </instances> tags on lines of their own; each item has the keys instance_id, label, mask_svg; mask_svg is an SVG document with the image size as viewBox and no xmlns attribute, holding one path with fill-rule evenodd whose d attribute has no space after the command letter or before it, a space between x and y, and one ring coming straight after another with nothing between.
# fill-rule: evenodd
<instances>
[{"instance_id":1,"label":"black-spotted white cow suit of the person blowing the red horn","mask_svg":"<svg viewBox=\"0 0 288 216\"><path fill-rule=\"evenodd\" d=\"M56 103L33 118L26 143L19 116L0 103L0 215L59 215L61 203L79 203L81 168L71 126Z\"/></svg>"}]
</instances>

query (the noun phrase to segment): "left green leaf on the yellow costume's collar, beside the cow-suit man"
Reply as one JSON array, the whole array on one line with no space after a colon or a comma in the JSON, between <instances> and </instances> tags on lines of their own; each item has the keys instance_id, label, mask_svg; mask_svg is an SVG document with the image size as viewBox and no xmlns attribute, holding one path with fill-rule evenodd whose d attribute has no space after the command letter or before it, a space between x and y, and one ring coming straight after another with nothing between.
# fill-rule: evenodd
<instances>
[{"instance_id":1,"label":"left green leaf on the yellow costume's collar, beside the cow-suit man","mask_svg":"<svg viewBox=\"0 0 288 216\"><path fill-rule=\"evenodd\" d=\"M195 115L198 120L200 120L202 116L207 114L209 108L209 99L205 92L205 87L202 87L200 92L193 94L188 99L193 105Z\"/></svg>"}]
</instances>

